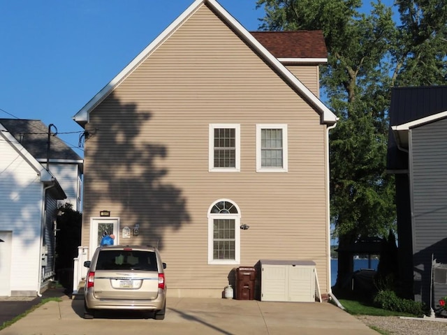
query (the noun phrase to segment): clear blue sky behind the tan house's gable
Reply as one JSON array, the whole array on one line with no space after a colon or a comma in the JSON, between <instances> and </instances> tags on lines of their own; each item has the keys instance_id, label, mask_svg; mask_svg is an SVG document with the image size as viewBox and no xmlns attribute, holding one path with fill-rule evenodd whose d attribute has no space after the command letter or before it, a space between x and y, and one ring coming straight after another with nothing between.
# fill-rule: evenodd
<instances>
[{"instance_id":1,"label":"clear blue sky behind the tan house's gable","mask_svg":"<svg viewBox=\"0 0 447 335\"><path fill-rule=\"evenodd\" d=\"M256 0L218 1L246 29L258 30L264 12ZM83 157L73 115L191 3L0 0L0 118L54 124Z\"/></svg>"}]
</instances>

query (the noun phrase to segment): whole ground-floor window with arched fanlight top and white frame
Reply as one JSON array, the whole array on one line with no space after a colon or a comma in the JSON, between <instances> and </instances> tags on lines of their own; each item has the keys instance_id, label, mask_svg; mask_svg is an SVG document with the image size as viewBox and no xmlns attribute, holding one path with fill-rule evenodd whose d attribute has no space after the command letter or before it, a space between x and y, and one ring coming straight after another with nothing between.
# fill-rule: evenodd
<instances>
[{"instance_id":1,"label":"whole ground-floor window with arched fanlight top and white frame","mask_svg":"<svg viewBox=\"0 0 447 335\"><path fill-rule=\"evenodd\" d=\"M240 210L230 200L218 200L208 211L208 264L239 263Z\"/></svg>"}]
</instances>

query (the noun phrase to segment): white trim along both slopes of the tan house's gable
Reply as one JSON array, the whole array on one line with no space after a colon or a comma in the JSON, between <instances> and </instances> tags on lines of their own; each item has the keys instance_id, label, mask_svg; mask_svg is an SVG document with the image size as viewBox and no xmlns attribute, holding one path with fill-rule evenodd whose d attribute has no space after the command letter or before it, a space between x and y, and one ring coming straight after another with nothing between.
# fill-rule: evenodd
<instances>
[{"instance_id":1,"label":"white trim along both slopes of the tan house's gable","mask_svg":"<svg viewBox=\"0 0 447 335\"><path fill-rule=\"evenodd\" d=\"M225 20L235 31L238 31L246 40L248 43L250 43L260 54L262 54L266 60L274 66L274 68L277 68L279 73L284 75L284 78L289 82L289 84L293 85L298 91L300 91L305 98L308 99L308 102L318 110L318 112L321 113L321 121L323 123L327 124L335 124L337 122L337 116L332 113L328 107L326 107L320 99L318 99L312 91L310 91L307 87L305 87L300 80L298 80L295 75L293 75L289 70L287 70L284 65L281 64L281 62L275 58L270 52L268 52L267 49L261 43L252 36L247 29L245 29L242 24L237 22L233 16L231 16L216 0L196 0L194 1L189 8L187 8L182 15L177 17L177 19L171 23L168 28L166 28L155 40L152 41L147 47L145 47L140 54L138 54L129 65L127 65L115 78L113 78L101 91L96 94L82 109L75 114L73 119L78 122L79 124L85 124L89 121L89 113L91 110L96 107L101 101L103 101L118 85L122 80L124 80L128 75L130 75L133 70L147 57L149 57L154 50L165 40L173 34L173 32L179 27L184 20L186 20L189 16L191 16L200 6L202 6L204 3L207 3L209 6L211 6L219 15L221 15L221 18Z\"/></svg>"}]
</instances>

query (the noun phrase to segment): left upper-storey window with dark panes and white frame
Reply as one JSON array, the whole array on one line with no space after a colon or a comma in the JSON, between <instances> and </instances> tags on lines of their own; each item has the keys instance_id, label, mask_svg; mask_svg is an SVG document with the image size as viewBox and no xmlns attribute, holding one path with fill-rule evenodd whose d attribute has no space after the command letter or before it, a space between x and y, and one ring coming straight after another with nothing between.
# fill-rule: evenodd
<instances>
[{"instance_id":1,"label":"left upper-storey window with dark panes and white frame","mask_svg":"<svg viewBox=\"0 0 447 335\"><path fill-rule=\"evenodd\" d=\"M240 171L240 125L210 124L210 171Z\"/></svg>"}]
</instances>

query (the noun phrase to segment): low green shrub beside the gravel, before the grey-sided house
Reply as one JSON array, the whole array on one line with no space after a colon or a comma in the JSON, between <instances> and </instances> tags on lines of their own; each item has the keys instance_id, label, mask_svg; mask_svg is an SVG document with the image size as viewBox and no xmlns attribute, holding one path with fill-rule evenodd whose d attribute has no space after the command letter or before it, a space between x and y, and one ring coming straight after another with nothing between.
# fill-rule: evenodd
<instances>
[{"instance_id":1,"label":"low green shrub beside the gravel, before the grey-sided house","mask_svg":"<svg viewBox=\"0 0 447 335\"><path fill-rule=\"evenodd\" d=\"M423 304L410 299L397 297L392 290L381 290L374 297L374 306L388 311L410 313L421 316L424 314Z\"/></svg>"}]
</instances>

